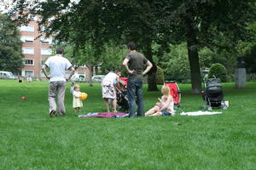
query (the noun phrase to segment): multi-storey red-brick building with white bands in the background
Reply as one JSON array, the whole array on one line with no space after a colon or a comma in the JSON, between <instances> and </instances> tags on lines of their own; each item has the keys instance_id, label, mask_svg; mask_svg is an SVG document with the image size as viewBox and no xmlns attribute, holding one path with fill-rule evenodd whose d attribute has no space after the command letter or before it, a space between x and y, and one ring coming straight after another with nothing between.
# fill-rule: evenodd
<instances>
[{"instance_id":1,"label":"multi-storey red-brick building with white bands in the background","mask_svg":"<svg viewBox=\"0 0 256 170\"><path fill-rule=\"evenodd\" d=\"M21 71L22 77L44 77L41 71L45 59L52 55L52 37L45 38L44 34L39 37L38 23L30 21L27 26L20 26L20 40L22 43L22 54L24 55L24 67ZM76 71L78 74L88 78L90 73L86 67Z\"/></svg>"}]
</instances>

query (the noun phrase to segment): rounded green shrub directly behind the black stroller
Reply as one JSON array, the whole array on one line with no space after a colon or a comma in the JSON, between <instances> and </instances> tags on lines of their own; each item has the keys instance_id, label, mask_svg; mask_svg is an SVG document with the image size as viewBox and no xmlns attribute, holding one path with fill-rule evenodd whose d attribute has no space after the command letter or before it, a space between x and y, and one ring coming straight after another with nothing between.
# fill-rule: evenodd
<instances>
[{"instance_id":1,"label":"rounded green shrub directly behind the black stroller","mask_svg":"<svg viewBox=\"0 0 256 170\"><path fill-rule=\"evenodd\" d=\"M213 64L210 68L208 78L213 78L213 76L219 78L221 82L227 82L227 70L224 65L219 63Z\"/></svg>"}]
</instances>

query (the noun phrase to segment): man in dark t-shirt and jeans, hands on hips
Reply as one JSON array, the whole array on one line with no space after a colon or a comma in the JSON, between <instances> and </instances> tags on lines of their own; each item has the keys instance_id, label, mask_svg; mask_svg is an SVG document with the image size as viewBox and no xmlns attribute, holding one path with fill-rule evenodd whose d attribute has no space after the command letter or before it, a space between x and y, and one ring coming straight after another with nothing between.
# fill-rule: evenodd
<instances>
[{"instance_id":1,"label":"man in dark t-shirt and jeans, hands on hips","mask_svg":"<svg viewBox=\"0 0 256 170\"><path fill-rule=\"evenodd\" d=\"M135 116L137 104L137 116L144 116L143 101L143 75L152 68L151 62L136 51L136 44L129 42L127 45L129 54L125 56L123 65L129 73L127 85L127 97L129 103L129 117ZM144 70L144 65L147 65Z\"/></svg>"}]
</instances>

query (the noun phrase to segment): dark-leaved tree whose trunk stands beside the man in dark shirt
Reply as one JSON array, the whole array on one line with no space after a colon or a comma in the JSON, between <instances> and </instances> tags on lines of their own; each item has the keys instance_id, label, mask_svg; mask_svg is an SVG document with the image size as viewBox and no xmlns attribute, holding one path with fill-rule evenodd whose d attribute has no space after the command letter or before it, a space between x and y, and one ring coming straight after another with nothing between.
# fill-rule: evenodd
<instances>
[{"instance_id":1,"label":"dark-leaved tree whose trunk stands beside the man in dark shirt","mask_svg":"<svg viewBox=\"0 0 256 170\"><path fill-rule=\"evenodd\" d=\"M137 42L139 49L153 63L152 42L158 37L153 1L15 1L13 12L21 14L17 20L26 21L29 14L38 14L40 26L46 26L47 35L73 42L81 48L90 44L96 55L102 54L109 41L125 44ZM24 13L24 11L30 13ZM50 20L49 20L50 19ZM156 90L156 66L148 73L148 90Z\"/></svg>"}]
</instances>

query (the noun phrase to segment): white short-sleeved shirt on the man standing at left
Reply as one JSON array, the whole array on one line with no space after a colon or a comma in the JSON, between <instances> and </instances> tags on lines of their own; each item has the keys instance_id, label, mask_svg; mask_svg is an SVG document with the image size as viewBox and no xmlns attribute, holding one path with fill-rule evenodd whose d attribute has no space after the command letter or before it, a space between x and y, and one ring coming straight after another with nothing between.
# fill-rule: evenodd
<instances>
[{"instance_id":1,"label":"white short-sleeved shirt on the man standing at left","mask_svg":"<svg viewBox=\"0 0 256 170\"><path fill-rule=\"evenodd\" d=\"M66 71L72 67L68 59L62 57L61 54L49 57L44 63L50 70L49 82L64 81L66 82Z\"/></svg>"}]
</instances>

